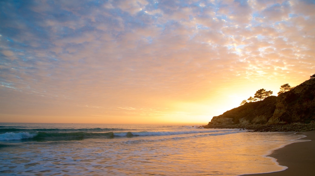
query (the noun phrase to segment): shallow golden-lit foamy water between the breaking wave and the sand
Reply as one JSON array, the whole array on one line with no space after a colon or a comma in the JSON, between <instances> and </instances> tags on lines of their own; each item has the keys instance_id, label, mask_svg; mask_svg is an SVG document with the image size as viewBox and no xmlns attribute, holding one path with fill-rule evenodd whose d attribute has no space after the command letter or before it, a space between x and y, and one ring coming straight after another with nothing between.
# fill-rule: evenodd
<instances>
[{"instance_id":1,"label":"shallow golden-lit foamy water between the breaking wave and the sand","mask_svg":"<svg viewBox=\"0 0 315 176\"><path fill-rule=\"evenodd\" d=\"M37 143L19 152L7 149L7 163L21 163L25 172L53 170L59 174L93 175L240 175L283 170L271 150L298 138L289 133L240 132L170 139L148 136L88 139L57 145ZM183 134L183 136L186 134ZM10 158L15 155L16 158ZM28 157L30 155L31 157ZM26 160L27 158L27 160ZM20 168L14 168L18 170ZM3 171L3 172L9 172ZM10 173L12 173L10 171ZM224 175L224 174L223 174Z\"/></svg>"}]
</instances>

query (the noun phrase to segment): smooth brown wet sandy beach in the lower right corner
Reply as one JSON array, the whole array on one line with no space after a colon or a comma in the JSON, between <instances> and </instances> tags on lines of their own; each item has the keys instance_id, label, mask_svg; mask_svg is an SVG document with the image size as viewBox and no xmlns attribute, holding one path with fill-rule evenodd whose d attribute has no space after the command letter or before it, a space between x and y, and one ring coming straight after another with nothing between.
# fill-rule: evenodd
<instances>
[{"instance_id":1,"label":"smooth brown wet sandy beach in the lower right corner","mask_svg":"<svg viewBox=\"0 0 315 176\"><path fill-rule=\"evenodd\" d=\"M306 135L302 140L311 140L298 142L285 146L274 151L271 157L276 158L277 162L288 169L274 173L250 174L253 176L289 176L289 175L315 175L315 131L299 132ZM247 175L248 176L248 175Z\"/></svg>"}]
</instances>

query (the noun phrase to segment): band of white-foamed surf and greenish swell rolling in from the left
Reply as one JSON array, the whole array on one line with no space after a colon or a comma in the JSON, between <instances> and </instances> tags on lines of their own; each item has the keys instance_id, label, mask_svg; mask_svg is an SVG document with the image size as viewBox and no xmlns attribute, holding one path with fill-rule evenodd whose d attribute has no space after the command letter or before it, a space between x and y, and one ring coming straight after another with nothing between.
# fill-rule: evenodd
<instances>
[{"instance_id":1,"label":"band of white-foamed surf and greenish swell rolling in from the left","mask_svg":"<svg viewBox=\"0 0 315 176\"><path fill-rule=\"evenodd\" d=\"M84 140L89 138L131 138L131 137L144 137L144 136L171 136L171 135L189 135L202 136L202 135L225 135L234 132L235 129L225 129L225 130L193 130L193 131L166 131L166 132L104 132L108 129L42 129L38 131L37 129L25 130L29 132L5 132L0 134L0 141L12 141L12 140L22 140L26 141L69 141L69 140ZM30 132L33 131L33 132ZM92 131L92 132L89 132ZM183 137L185 138L185 137Z\"/></svg>"}]
</instances>

